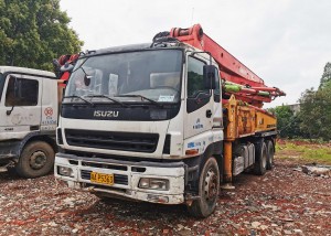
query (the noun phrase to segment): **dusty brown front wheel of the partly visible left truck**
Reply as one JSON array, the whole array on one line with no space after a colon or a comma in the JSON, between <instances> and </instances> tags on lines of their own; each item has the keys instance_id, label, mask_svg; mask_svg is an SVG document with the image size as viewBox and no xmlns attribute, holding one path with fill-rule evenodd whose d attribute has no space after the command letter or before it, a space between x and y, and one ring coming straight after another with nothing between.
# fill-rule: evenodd
<instances>
[{"instance_id":1,"label":"dusty brown front wheel of the partly visible left truck","mask_svg":"<svg viewBox=\"0 0 331 236\"><path fill-rule=\"evenodd\" d=\"M39 178L53 170L54 159L54 150L49 143L31 142L24 147L15 170L22 178Z\"/></svg>"}]
</instances>

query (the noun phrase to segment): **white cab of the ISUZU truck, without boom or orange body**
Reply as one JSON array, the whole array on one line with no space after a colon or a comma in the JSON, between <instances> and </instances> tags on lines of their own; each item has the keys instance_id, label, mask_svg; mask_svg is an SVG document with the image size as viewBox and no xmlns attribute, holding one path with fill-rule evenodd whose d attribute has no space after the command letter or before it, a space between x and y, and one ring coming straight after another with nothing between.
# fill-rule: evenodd
<instances>
[{"instance_id":1,"label":"white cab of the ISUZU truck, without boom or orange body","mask_svg":"<svg viewBox=\"0 0 331 236\"><path fill-rule=\"evenodd\" d=\"M55 178L102 197L197 199L200 165L221 155L223 141L220 78L216 89L203 79L210 61L185 44L79 57L62 100ZM214 169L203 172L211 199L217 195Z\"/></svg>"}]
</instances>

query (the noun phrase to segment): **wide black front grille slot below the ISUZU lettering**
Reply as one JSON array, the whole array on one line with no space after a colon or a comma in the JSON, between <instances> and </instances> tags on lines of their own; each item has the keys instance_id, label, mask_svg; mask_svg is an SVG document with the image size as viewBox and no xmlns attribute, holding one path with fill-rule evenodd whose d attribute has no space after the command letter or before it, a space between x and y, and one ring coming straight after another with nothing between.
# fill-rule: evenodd
<instances>
[{"instance_id":1,"label":"wide black front grille slot below the ISUZU lettering","mask_svg":"<svg viewBox=\"0 0 331 236\"><path fill-rule=\"evenodd\" d=\"M158 133L108 132L94 130L65 129L70 146L108 150L154 152L159 141Z\"/></svg>"}]
</instances>

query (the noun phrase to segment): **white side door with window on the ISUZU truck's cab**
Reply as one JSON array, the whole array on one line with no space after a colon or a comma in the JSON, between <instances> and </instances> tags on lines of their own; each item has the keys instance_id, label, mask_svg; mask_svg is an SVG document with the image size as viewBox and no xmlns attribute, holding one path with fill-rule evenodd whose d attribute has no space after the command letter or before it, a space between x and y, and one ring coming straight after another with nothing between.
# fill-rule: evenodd
<instances>
[{"instance_id":1,"label":"white side door with window on the ISUZU truck's cab","mask_svg":"<svg viewBox=\"0 0 331 236\"><path fill-rule=\"evenodd\" d=\"M210 144L223 140L222 104L218 71L215 67L215 88L206 89L203 68L210 58L188 56L186 110L184 119L184 150L186 154L202 154ZM201 55L201 54L200 54Z\"/></svg>"}]
</instances>

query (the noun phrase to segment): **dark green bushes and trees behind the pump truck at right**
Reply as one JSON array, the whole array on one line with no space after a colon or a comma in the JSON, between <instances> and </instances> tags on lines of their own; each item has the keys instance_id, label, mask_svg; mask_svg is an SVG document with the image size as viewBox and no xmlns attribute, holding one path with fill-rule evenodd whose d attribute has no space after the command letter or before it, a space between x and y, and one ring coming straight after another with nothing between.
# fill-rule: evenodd
<instances>
[{"instance_id":1,"label":"dark green bushes and trees behind the pump truck at right","mask_svg":"<svg viewBox=\"0 0 331 236\"><path fill-rule=\"evenodd\" d=\"M327 63L318 90L302 93L300 111L293 114L289 106L274 108L281 138L309 138L331 140L331 63Z\"/></svg>"}]
</instances>

